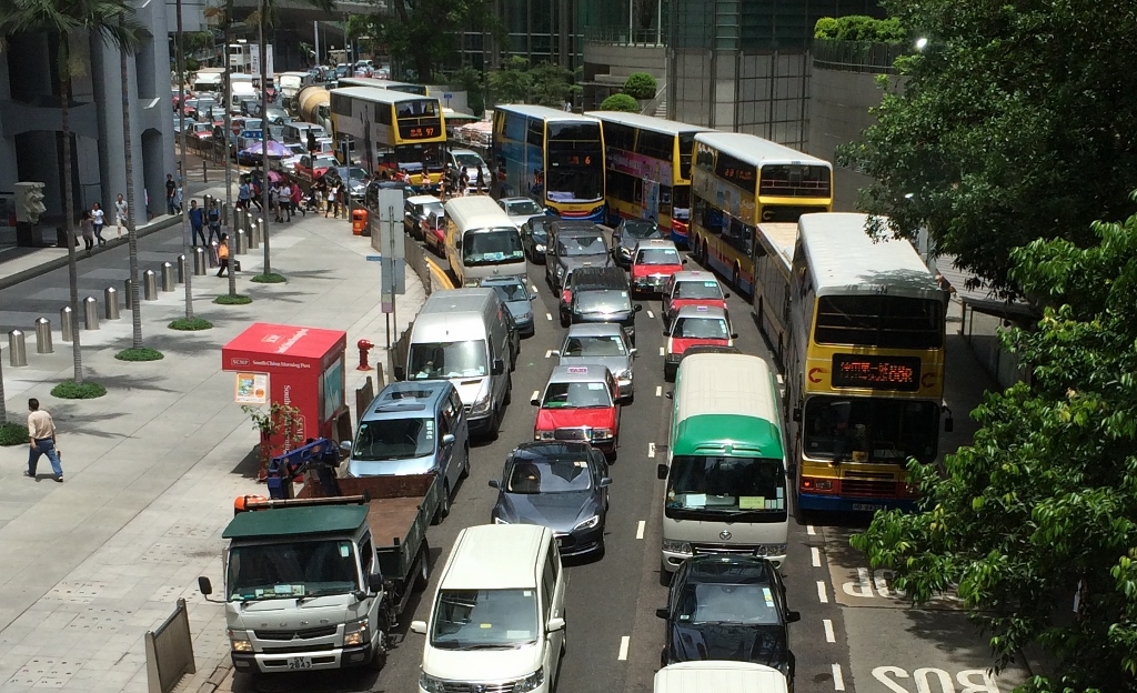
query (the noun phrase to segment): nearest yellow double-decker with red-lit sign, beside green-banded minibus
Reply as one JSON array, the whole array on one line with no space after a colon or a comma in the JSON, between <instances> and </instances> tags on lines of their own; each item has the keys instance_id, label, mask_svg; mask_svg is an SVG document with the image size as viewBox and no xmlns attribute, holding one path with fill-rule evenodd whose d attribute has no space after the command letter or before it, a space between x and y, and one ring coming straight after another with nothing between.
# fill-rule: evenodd
<instances>
[{"instance_id":1,"label":"nearest yellow double-decker with red-lit sign, beside green-banded minibus","mask_svg":"<svg viewBox=\"0 0 1137 693\"><path fill-rule=\"evenodd\" d=\"M869 221L798 220L786 407L805 510L913 508L907 461L938 453L947 294L908 241L871 238Z\"/></svg>"}]
</instances>

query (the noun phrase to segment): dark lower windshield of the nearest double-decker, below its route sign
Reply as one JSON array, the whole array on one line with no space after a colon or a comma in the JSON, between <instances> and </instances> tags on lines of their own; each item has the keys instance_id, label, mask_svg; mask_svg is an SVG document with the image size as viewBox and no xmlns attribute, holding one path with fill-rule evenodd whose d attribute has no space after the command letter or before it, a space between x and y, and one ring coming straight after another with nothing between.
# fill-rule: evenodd
<instances>
[{"instance_id":1,"label":"dark lower windshield of the nearest double-decker, below its route sign","mask_svg":"<svg viewBox=\"0 0 1137 693\"><path fill-rule=\"evenodd\" d=\"M835 462L885 462L936 457L939 405L882 397L814 396L805 405L805 451Z\"/></svg>"}]
</instances>

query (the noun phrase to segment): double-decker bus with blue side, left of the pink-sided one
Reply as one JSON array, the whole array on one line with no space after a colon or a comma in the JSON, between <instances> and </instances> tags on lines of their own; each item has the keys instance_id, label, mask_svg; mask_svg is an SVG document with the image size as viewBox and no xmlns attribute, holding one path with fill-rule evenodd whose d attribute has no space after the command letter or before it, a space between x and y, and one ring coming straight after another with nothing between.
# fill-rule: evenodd
<instances>
[{"instance_id":1,"label":"double-decker bus with blue side, left of the pink-sided one","mask_svg":"<svg viewBox=\"0 0 1137 693\"><path fill-rule=\"evenodd\" d=\"M498 106L490 159L499 197L531 197L557 216L604 222L604 137L596 118Z\"/></svg>"}]
</instances>

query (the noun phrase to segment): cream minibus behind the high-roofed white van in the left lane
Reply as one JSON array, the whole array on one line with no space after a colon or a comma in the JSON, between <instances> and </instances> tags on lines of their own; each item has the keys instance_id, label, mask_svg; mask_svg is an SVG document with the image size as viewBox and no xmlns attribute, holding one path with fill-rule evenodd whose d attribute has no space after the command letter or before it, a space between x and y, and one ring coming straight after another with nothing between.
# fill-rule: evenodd
<instances>
[{"instance_id":1,"label":"cream minibus behind the high-roofed white van in the left lane","mask_svg":"<svg viewBox=\"0 0 1137 693\"><path fill-rule=\"evenodd\" d=\"M446 258L459 287L476 287L483 277L522 277L529 272L521 231L485 195L446 204Z\"/></svg>"}]
</instances>

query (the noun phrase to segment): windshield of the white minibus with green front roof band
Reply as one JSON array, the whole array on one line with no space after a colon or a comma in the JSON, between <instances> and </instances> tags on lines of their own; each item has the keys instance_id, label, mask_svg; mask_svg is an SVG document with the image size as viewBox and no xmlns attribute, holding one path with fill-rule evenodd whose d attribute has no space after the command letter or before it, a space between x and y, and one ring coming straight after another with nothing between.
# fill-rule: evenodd
<instances>
[{"instance_id":1,"label":"windshield of the white minibus with green front roof band","mask_svg":"<svg viewBox=\"0 0 1137 693\"><path fill-rule=\"evenodd\" d=\"M781 460L677 455L667 476L666 505L712 512L785 512Z\"/></svg>"}]
</instances>

